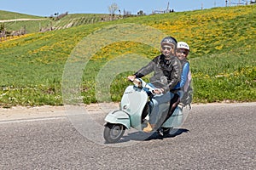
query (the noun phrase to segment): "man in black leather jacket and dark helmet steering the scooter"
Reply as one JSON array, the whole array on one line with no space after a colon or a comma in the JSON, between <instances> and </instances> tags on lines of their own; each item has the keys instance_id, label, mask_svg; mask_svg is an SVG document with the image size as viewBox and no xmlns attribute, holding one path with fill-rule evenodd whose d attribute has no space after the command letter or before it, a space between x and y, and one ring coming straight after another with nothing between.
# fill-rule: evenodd
<instances>
[{"instance_id":1,"label":"man in black leather jacket and dark helmet steering the scooter","mask_svg":"<svg viewBox=\"0 0 256 170\"><path fill-rule=\"evenodd\" d=\"M143 128L143 132L150 133L158 129L161 117L166 117L167 113L161 113L159 105L168 103L174 96L172 88L180 81L181 64L176 57L177 40L174 37L165 37L160 42L161 54L152 59L148 65L143 66L134 75L128 79L141 78L154 71L153 77L150 77L150 86L154 89L154 97L152 99L153 108L149 115L148 126Z\"/></svg>"}]
</instances>

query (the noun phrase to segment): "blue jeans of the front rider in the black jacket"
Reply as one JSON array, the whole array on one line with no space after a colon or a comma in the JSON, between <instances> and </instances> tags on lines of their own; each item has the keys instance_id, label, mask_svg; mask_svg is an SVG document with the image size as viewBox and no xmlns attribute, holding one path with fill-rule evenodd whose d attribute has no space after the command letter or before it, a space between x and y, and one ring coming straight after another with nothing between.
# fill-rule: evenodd
<instances>
[{"instance_id":1,"label":"blue jeans of the front rider in the black jacket","mask_svg":"<svg viewBox=\"0 0 256 170\"><path fill-rule=\"evenodd\" d=\"M162 113L159 111L160 104L168 103L173 98L174 94L171 92L167 92L166 94L157 94L154 95L152 102L153 102L153 108L151 111L151 114L149 115L149 123L150 124L156 124L160 117L162 116Z\"/></svg>"}]
</instances>

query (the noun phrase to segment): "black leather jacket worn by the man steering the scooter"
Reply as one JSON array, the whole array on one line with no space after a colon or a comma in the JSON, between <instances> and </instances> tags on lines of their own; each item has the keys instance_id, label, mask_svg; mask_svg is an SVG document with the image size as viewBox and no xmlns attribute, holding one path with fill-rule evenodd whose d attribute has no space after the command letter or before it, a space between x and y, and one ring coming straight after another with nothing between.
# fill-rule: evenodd
<instances>
[{"instance_id":1,"label":"black leather jacket worn by the man steering the scooter","mask_svg":"<svg viewBox=\"0 0 256 170\"><path fill-rule=\"evenodd\" d=\"M164 93L166 93L171 91L180 81L181 70L182 67L177 57L172 56L171 59L166 60L165 55L161 54L137 71L135 76L141 78L154 71L150 82L155 88L163 88Z\"/></svg>"}]
</instances>

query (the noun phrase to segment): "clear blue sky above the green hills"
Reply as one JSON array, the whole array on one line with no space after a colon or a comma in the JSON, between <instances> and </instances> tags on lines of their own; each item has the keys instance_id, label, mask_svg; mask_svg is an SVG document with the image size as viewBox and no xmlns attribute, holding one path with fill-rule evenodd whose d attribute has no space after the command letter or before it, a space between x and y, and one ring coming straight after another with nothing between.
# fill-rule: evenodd
<instances>
[{"instance_id":1,"label":"clear blue sky above the green hills","mask_svg":"<svg viewBox=\"0 0 256 170\"><path fill-rule=\"evenodd\" d=\"M0 0L0 10L38 16L66 12L68 14L109 14L108 7L113 3L118 5L122 13L125 9L131 14L137 14L140 10L145 14L152 14L153 10L165 10L168 3L169 9L177 12L225 6L225 0Z\"/></svg>"}]
</instances>

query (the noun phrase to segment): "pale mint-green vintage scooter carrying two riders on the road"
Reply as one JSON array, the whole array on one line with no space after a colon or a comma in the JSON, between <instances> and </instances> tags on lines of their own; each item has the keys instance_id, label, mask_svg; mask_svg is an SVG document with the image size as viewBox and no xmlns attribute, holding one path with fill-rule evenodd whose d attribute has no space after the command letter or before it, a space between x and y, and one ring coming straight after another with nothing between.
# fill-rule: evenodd
<instances>
[{"instance_id":1,"label":"pale mint-green vintage scooter carrying two riders on the road","mask_svg":"<svg viewBox=\"0 0 256 170\"><path fill-rule=\"evenodd\" d=\"M119 110L111 111L105 117L103 137L106 143L116 143L125 133L125 129L131 127L138 131L143 131L143 127L147 126L148 115L151 111L150 97L146 91L153 92L151 88L141 78L135 78L134 85L130 85L125 89L122 96ZM169 103L161 104L160 111L168 111ZM178 105L172 116L161 126L166 129L172 127L180 127L183 123L183 106Z\"/></svg>"}]
</instances>

